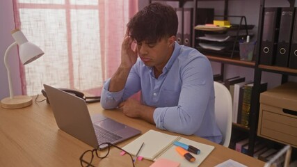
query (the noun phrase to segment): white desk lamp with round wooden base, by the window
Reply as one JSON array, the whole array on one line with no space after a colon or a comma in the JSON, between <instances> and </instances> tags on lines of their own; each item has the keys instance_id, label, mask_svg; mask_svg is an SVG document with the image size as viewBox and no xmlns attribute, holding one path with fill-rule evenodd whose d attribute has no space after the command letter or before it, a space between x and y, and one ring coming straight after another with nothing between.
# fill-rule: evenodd
<instances>
[{"instance_id":1,"label":"white desk lamp with round wooden base, by the window","mask_svg":"<svg viewBox=\"0 0 297 167\"><path fill-rule=\"evenodd\" d=\"M4 64L6 66L8 74L10 97L6 97L3 100L1 100L1 106L4 109L20 109L26 106L30 106L32 104L32 97L26 95L13 95L13 86L10 78L10 67L8 65L8 52L13 46L19 45L19 58L21 59L21 62L24 65L31 63L32 61L35 61L37 58L40 58L40 56L42 56L45 53L38 46L29 42L21 30L15 29L11 32L11 34L13 35L15 42L13 42L13 44L11 44L6 49L4 55Z\"/></svg>"}]
</instances>

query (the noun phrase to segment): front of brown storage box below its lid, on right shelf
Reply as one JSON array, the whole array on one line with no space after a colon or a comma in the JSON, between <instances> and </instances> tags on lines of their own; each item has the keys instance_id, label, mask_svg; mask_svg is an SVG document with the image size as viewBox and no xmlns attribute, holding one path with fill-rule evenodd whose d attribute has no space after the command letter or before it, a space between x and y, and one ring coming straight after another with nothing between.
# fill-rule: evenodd
<instances>
[{"instance_id":1,"label":"front of brown storage box below its lid, on right shelf","mask_svg":"<svg viewBox=\"0 0 297 167\"><path fill-rule=\"evenodd\" d=\"M297 148L297 116L284 113L278 107L261 104L258 136Z\"/></svg>"}]
</instances>

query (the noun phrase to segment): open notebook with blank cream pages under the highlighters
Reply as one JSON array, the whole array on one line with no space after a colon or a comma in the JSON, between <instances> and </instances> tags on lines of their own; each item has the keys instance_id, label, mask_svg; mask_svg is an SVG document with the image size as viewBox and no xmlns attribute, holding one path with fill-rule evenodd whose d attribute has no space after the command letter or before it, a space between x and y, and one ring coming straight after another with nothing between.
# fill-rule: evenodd
<instances>
[{"instance_id":1,"label":"open notebook with blank cream pages under the highlighters","mask_svg":"<svg viewBox=\"0 0 297 167\"><path fill-rule=\"evenodd\" d=\"M176 146L173 145L175 141L179 141L187 145L193 145L195 148L198 148L200 150L200 154L191 153L196 160L193 162L187 161L178 152L176 152ZM145 134L125 145L122 149L135 156L142 143L145 144L138 153L138 156L152 161L156 161L160 158L178 161L181 164L180 167L199 166L202 161L211 153L211 151L214 150L213 145L198 143L187 138L164 134L154 130L145 132Z\"/></svg>"}]
</instances>

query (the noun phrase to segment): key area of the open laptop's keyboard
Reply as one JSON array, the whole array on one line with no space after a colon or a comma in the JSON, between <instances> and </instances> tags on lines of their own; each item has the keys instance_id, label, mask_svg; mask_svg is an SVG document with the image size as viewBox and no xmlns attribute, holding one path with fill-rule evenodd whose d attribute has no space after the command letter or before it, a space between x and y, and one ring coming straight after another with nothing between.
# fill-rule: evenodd
<instances>
[{"instance_id":1,"label":"key area of the open laptop's keyboard","mask_svg":"<svg viewBox=\"0 0 297 167\"><path fill-rule=\"evenodd\" d=\"M119 136L118 134L114 134L113 132L109 132L106 129L99 127L98 125L94 125L94 129L95 129L95 134L97 136L97 141L99 143L113 142L122 138L122 136Z\"/></svg>"}]
</instances>

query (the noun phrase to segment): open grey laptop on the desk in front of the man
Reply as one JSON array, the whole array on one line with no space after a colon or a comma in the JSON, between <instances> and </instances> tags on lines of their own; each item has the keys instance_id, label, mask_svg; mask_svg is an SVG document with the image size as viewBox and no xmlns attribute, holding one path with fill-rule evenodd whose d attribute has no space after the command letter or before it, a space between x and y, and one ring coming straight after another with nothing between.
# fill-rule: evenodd
<instances>
[{"instance_id":1,"label":"open grey laptop on the desk in front of the man","mask_svg":"<svg viewBox=\"0 0 297 167\"><path fill-rule=\"evenodd\" d=\"M141 134L138 129L106 118L100 113L91 117L83 99L46 84L43 86L58 128L93 148L105 142L120 143ZM102 145L100 149L106 147Z\"/></svg>"}]
</instances>

